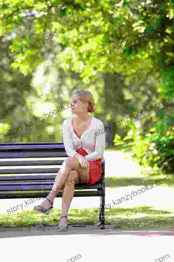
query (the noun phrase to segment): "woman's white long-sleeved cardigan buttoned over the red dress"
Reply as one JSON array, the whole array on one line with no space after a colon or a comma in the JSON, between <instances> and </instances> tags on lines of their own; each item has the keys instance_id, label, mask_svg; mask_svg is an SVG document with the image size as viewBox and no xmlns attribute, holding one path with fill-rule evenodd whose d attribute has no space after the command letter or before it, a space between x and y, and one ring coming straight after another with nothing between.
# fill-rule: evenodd
<instances>
[{"instance_id":1,"label":"woman's white long-sleeved cardigan buttoned over the red dress","mask_svg":"<svg viewBox=\"0 0 174 262\"><path fill-rule=\"evenodd\" d=\"M74 157L78 148L83 148L88 155L85 156L87 160L95 161L103 157L105 149L105 132L98 130L104 129L103 122L96 117L92 117L91 125L83 132L81 138L77 137L72 127L72 118L65 119L63 122L63 143L66 154L69 157Z\"/></svg>"}]
</instances>

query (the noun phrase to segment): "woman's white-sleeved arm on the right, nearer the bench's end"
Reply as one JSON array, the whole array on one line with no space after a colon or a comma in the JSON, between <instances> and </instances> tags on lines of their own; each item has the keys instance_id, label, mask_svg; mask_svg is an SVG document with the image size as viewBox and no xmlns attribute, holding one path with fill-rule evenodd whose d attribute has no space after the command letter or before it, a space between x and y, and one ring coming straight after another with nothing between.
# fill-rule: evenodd
<instances>
[{"instance_id":1,"label":"woman's white-sleeved arm on the right, nearer the bench's end","mask_svg":"<svg viewBox=\"0 0 174 262\"><path fill-rule=\"evenodd\" d=\"M104 125L103 125L102 121L100 121L100 124L98 125L97 128L99 128L99 130L104 129ZM96 132L94 134L96 135ZM90 161L100 159L100 158L103 157L104 149L105 149L105 132L104 133L101 132L101 134L96 136L95 151L93 153L85 156L85 158L87 160L90 160Z\"/></svg>"}]
</instances>

